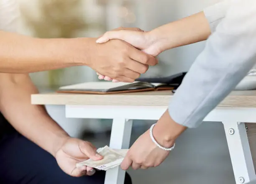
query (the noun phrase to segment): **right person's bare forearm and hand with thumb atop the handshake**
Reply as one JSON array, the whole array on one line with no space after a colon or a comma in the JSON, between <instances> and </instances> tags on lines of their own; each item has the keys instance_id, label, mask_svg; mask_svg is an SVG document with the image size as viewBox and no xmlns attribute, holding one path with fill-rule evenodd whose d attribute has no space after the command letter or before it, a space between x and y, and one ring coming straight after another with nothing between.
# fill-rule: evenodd
<instances>
[{"instance_id":1,"label":"right person's bare forearm and hand with thumb atop the handshake","mask_svg":"<svg viewBox=\"0 0 256 184\"><path fill-rule=\"evenodd\" d=\"M108 31L97 43L120 39L153 56L179 46L204 41L210 36L210 25L203 12L160 26L152 31Z\"/></svg>"}]
</instances>

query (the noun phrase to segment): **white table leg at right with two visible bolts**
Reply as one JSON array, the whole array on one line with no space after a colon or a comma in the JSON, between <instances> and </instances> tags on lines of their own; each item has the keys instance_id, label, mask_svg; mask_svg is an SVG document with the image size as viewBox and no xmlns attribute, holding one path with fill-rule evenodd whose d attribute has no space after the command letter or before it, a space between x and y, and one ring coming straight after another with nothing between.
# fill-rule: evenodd
<instances>
[{"instance_id":1,"label":"white table leg at right with two visible bolts","mask_svg":"<svg viewBox=\"0 0 256 184\"><path fill-rule=\"evenodd\" d=\"M223 122L236 184L256 179L244 123Z\"/></svg>"}]
</instances>

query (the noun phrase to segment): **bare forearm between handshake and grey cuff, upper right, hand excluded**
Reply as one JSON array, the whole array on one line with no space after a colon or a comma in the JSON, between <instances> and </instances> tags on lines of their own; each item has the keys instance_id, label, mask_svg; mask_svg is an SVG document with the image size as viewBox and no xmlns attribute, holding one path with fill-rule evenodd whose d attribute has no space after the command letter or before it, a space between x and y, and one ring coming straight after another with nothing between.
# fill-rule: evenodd
<instances>
[{"instance_id":1,"label":"bare forearm between handshake and grey cuff, upper right, hand excluded","mask_svg":"<svg viewBox=\"0 0 256 184\"><path fill-rule=\"evenodd\" d=\"M163 52L179 46L204 41L210 36L210 25L203 12L160 26L148 33Z\"/></svg>"}]
</instances>

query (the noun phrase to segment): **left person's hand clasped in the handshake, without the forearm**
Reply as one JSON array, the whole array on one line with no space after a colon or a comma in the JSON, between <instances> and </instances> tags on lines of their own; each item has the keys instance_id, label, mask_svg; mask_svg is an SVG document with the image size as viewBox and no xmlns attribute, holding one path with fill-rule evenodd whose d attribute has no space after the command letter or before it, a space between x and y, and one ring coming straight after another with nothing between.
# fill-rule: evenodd
<instances>
[{"instance_id":1,"label":"left person's hand clasped in the handshake, without the forearm","mask_svg":"<svg viewBox=\"0 0 256 184\"><path fill-rule=\"evenodd\" d=\"M124 28L118 28L115 31L121 29ZM143 32L138 28L125 28L125 30ZM97 57L93 56L90 59L92 61L96 59L96 61L89 66L98 74L118 81L134 82L148 70L149 66L158 63L158 60L151 54L146 54L141 49L119 39L108 41L108 43L102 42L96 46Z\"/></svg>"}]
</instances>

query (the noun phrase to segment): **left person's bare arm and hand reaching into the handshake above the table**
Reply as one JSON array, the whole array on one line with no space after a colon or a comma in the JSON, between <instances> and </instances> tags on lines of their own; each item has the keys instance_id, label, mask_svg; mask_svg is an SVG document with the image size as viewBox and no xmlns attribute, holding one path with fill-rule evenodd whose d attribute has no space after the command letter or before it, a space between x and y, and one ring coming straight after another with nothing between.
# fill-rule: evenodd
<instances>
[{"instance_id":1,"label":"left person's bare arm and hand reaching into the handshake above the table","mask_svg":"<svg viewBox=\"0 0 256 184\"><path fill-rule=\"evenodd\" d=\"M32 38L0 31L0 72L30 73L85 65L123 82L133 82L157 59L124 41L96 38Z\"/></svg>"}]
</instances>

